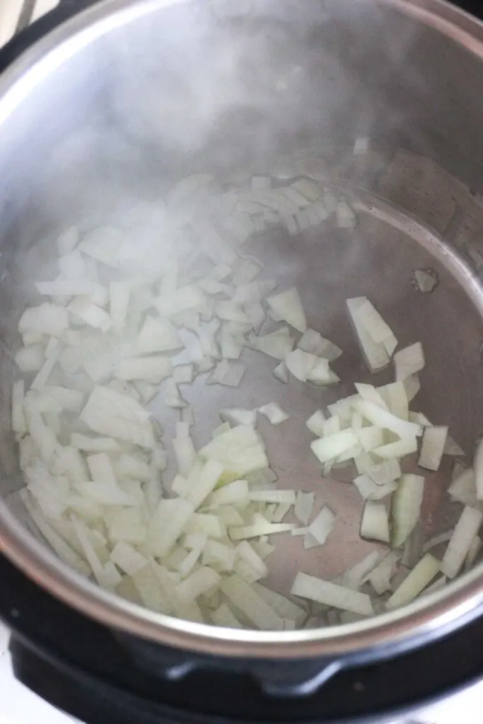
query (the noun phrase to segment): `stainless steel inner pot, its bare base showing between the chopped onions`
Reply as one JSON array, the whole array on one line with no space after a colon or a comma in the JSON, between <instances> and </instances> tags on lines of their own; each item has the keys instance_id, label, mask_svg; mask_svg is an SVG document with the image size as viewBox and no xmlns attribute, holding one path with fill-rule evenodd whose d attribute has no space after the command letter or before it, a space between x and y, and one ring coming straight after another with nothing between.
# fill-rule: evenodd
<instances>
[{"instance_id":1,"label":"stainless steel inner pot, its bare base showing between the chopped onions","mask_svg":"<svg viewBox=\"0 0 483 724\"><path fill-rule=\"evenodd\" d=\"M353 199L356 231L277 232L248 253L271 277L295 283L309 320L345 350L336 365L343 384L329 392L293 385L280 397L273 365L245 352L240 390L207 395L198 383L191 400L203 405L201 444L220 407L281 399L292 412L283 445L279 431L262 430L280 485L318 491L339 515L322 548L279 542L270 585L288 592L296 570L335 576L356 563L373 547L358 537L361 499L340 476L321 479L303 425L353 382L390 381L391 371L366 370L345 298L368 295L401 344L423 342L414 409L449 424L469 460L483 432L482 57L483 25L438 0L105 0L0 77L0 548L22 571L109 626L230 656L391 656L481 613L481 565L403 610L284 633L174 620L101 592L59 563L29 523L9 408L17 320L65 227L115 222L193 172L228 181L323 169ZM369 153L354 156L354 140L365 136ZM416 268L437 271L431 295L413 288ZM424 537L458 518L448 480L448 462L427 476Z\"/></svg>"}]
</instances>

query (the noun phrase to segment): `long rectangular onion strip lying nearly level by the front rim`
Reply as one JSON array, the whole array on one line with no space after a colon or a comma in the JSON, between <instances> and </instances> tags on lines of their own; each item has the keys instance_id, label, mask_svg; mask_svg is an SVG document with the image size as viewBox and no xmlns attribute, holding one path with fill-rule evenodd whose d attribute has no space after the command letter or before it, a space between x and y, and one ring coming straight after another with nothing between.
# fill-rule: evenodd
<instances>
[{"instance_id":1,"label":"long rectangular onion strip lying nearly level by the front rim","mask_svg":"<svg viewBox=\"0 0 483 724\"><path fill-rule=\"evenodd\" d=\"M367 594L351 591L343 586L323 581L322 578L308 576L306 573L297 573L291 593L294 596L365 616L374 613L371 599Z\"/></svg>"}]
</instances>

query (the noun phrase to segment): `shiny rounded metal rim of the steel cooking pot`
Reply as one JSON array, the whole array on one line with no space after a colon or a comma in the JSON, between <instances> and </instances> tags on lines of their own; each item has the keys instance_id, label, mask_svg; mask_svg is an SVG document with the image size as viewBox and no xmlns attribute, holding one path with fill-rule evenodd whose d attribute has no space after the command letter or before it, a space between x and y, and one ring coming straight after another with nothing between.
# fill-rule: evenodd
<instances>
[{"instance_id":1,"label":"shiny rounded metal rim of the steel cooking pot","mask_svg":"<svg viewBox=\"0 0 483 724\"><path fill-rule=\"evenodd\" d=\"M101 0L51 30L0 75L0 127L30 90L96 38L156 9L188 0ZM439 30L483 59L483 24L445 0L374 0ZM461 262L462 271L476 279ZM83 615L175 649L224 657L364 662L392 657L474 620L482 610L483 564L403 609L358 623L302 631L247 631L154 613L106 592L64 565L0 501L0 552L28 578Z\"/></svg>"}]
</instances>

